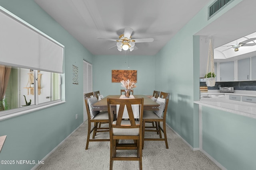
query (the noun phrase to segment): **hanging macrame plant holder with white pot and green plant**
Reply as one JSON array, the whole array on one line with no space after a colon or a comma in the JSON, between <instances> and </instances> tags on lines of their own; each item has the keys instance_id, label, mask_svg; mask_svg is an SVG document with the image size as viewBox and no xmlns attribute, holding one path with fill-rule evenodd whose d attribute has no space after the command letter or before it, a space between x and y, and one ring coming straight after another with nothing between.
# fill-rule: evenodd
<instances>
[{"instance_id":1,"label":"hanging macrame plant holder with white pot and green plant","mask_svg":"<svg viewBox=\"0 0 256 170\"><path fill-rule=\"evenodd\" d=\"M210 68L209 68L210 67ZM210 69L210 72L208 72ZM213 87L215 86L215 76L214 74L214 40L212 37L209 38L209 50L208 50L208 61L206 68L206 86Z\"/></svg>"}]
</instances>

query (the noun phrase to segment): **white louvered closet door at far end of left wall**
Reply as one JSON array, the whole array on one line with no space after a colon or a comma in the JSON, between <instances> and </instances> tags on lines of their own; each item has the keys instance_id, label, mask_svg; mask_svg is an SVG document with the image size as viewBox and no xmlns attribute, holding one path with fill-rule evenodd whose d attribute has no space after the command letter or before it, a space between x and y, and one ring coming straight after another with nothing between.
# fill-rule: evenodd
<instances>
[{"instance_id":1,"label":"white louvered closet door at far end of left wall","mask_svg":"<svg viewBox=\"0 0 256 170\"><path fill-rule=\"evenodd\" d=\"M92 64L88 63L87 61L84 61L83 64L83 94L84 93L90 93L92 92ZM84 95L83 101L84 101ZM87 120L87 113L86 113L86 107L85 103L84 105L84 121Z\"/></svg>"}]
</instances>

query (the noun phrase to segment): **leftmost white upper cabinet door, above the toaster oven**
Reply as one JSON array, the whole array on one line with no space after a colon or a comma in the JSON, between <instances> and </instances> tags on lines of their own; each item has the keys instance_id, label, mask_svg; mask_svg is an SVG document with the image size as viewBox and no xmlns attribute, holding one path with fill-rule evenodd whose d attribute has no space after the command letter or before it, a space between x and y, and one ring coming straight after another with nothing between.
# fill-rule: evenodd
<instances>
[{"instance_id":1,"label":"leftmost white upper cabinet door, above the toaster oven","mask_svg":"<svg viewBox=\"0 0 256 170\"><path fill-rule=\"evenodd\" d=\"M234 61L220 63L220 81L234 81Z\"/></svg>"}]
</instances>

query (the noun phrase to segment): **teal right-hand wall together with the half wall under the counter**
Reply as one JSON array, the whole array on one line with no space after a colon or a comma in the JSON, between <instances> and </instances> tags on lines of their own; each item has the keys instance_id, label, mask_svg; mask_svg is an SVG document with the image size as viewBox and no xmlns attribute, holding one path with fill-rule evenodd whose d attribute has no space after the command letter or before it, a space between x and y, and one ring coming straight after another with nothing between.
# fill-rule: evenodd
<instances>
[{"instance_id":1,"label":"teal right-hand wall together with the half wall under the counter","mask_svg":"<svg viewBox=\"0 0 256 170\"><path fill-rule=\"evenodd\" d=\"M194 35L240 2L210 21L206 6L156 55L156 89L170 93L167 124L193 148L199 147L199 108L193 102L199 100L200 77L200 39ZM255 126L255 119L204 107L202 149L227 169L255 169Z\"/></svg>"}]
</instances>

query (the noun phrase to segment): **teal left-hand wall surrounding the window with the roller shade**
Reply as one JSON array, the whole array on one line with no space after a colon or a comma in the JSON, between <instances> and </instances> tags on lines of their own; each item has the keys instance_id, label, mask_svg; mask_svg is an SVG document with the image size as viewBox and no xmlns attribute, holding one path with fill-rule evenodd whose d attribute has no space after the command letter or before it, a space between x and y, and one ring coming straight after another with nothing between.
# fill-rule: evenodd
<instances>
[{"instance_id":1,"label":"teal left-hand wall surrounding the window with the roller shade","mask_svg":"<svg viewBox=\"0 0 256 170\"><path fill-rule=\"evenodd\" d=\"M89 53L48 16L34 0L0 0L0 6L65 46L63 81L66 103L0 121L0 136L7 135L0 160L42 160L83 122L83 59ZM72 64L78 66L79 84L72 84ZM80 97L79 97L80 96ZM78 114L78 119L75 115ZM28 170L33 164L2 165L2 170Z\"/></svg>"}]
</instances>

